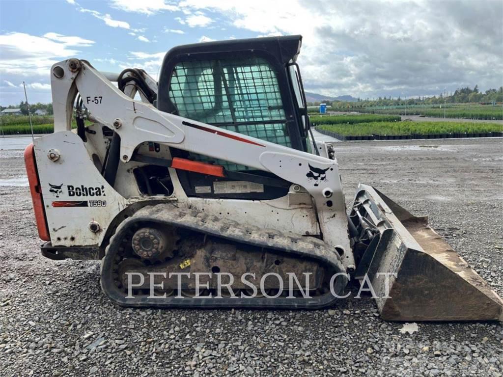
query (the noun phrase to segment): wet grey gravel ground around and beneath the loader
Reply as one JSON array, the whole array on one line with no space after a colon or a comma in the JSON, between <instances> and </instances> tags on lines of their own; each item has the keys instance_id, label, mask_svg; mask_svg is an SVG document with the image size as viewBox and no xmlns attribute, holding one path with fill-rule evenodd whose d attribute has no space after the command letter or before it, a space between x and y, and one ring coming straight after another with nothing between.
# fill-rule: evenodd
<instances>
[{"instance_id":1,"label":"wet grey gravel ground around and beneath the loader","mask_svg":"<svg viewBox=\"0 0 503 377\"><path fill-rule=\"evenodd\" d=\"M348 205L362 181L428 213L503 296L501 139L334 147ZM22 151L0 151L2 182L23 175ZM320 311L119 308L97 261L40 255L26 186L2 185L0 199L0 375L502 375L500 324L402 334L371 298Z\"/></svg>"}]
</instances>

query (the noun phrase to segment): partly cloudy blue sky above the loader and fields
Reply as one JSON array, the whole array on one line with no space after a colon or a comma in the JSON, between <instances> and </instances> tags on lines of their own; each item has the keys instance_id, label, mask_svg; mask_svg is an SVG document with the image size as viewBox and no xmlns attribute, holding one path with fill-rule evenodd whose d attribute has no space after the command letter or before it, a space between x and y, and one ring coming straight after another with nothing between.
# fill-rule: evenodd
<instances>
[{"instance_id":1,"label":"partly cloudy blue sky above the loader and fields","mask_svg":"<svg viewBox=\"0 0 503 377\"><path fill-rule=\"evenodd\" d=\"M187 43L301 34L306 91L360 98L503 84L503 2L0 0L0 105L51 102L50 67L143 68Z\"/></svg>"}]
</instances>

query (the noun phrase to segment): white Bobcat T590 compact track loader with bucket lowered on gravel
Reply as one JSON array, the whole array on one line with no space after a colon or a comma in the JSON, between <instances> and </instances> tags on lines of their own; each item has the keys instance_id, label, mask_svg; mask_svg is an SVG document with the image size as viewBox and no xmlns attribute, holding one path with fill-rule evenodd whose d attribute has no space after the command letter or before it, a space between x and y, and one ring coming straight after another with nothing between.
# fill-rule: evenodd
<instances>
[{"instance_id":1,"label":"white Bobcat T590 compact track loader with bucket lowered on gravel","mask_svg":"<svg viewBox=\"0 0 503 377\"><path fill-rule=\"evenodd\" d=\"M42 254L101 259L123 306L323 308L360 280L386 320L499 320L426 218L365 184L347 213L309 129L301 40L175 47L158 82L54 64L54 133L25 151Z\"/></svg>"}]
</instances>

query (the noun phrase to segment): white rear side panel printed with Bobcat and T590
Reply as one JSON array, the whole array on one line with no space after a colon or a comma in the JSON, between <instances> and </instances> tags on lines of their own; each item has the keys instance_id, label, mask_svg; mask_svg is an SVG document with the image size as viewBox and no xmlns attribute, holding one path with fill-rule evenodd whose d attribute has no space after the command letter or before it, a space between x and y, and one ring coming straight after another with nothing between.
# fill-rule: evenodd
<instances>
[{"instance_id":1,"label":"white rear side panel printed with Bobcat and T590","mask_svg":"<svg viewBox=\"0 0 503 377\"><path fill-rule=\"evenodd\" d=\"M57 161L47 157L50 149L58 150ZM34 150L52 245L100 245L108 225L127 207L128 201L103 179L82 140L73 132L37 138ZM88 189L88 195L82 186ZM76 192L71 187L80 190ZM98 207L96 203L96 207L90 207L90 201L106 202L106 206L102 203ZM87 206L79 207L79 202ZM92 232L91 221L97 222L101 230Z\"/></svg>"}]
</instances>

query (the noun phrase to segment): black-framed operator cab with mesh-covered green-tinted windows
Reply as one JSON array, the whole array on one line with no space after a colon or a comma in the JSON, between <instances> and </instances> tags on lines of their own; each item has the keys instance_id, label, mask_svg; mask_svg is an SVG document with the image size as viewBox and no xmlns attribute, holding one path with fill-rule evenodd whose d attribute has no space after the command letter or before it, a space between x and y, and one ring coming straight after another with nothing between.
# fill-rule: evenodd
<instances>
[{"instance_id":1,"label":"black-framed operator cab with mesh-covered green-tinted windows","mask_svg":"<svg viewBox=\"0 0 503 377\"><path fill-rule=\"evenodd\" d=\"M309 120L299 67L302 36L251 38L177 46L166 53L158 82L157 108L191 120L310 152ZM256 174L247 166L171 148L173 156ZM178 171L189 196L273 199L288 189L262 193L196 193L215 179Z\"/></svg>"}]
</instances>

